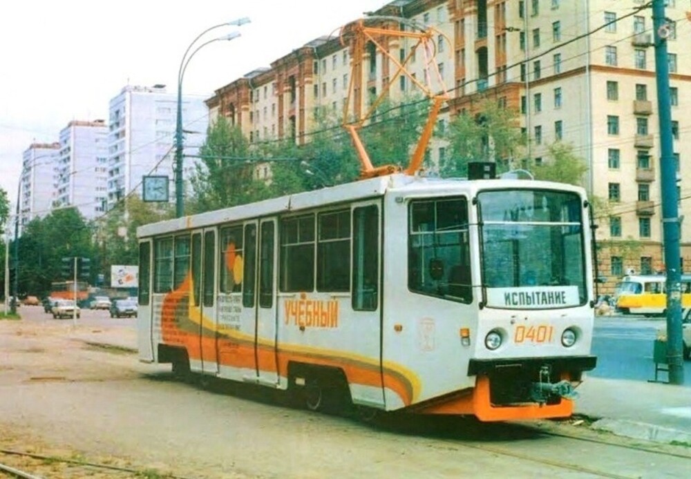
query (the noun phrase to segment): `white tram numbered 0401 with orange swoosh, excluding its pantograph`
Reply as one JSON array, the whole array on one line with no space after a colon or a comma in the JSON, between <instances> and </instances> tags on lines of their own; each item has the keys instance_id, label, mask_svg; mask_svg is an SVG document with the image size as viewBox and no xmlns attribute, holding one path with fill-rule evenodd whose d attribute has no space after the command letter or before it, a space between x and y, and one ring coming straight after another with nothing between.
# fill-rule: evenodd
<instances>
[{"instance_id":1,"label":"white tram numbered 0401 with orange swoosh, excluding its pantograph","mask_svg":"<svg viewBox=\"0 0 691 479\"><path fill-rule=\"evenodd\" d=\"M569 416L594 368L583 188L402 174L148 224L144 362L310 409Z\"/></svg>"}]
</instances>

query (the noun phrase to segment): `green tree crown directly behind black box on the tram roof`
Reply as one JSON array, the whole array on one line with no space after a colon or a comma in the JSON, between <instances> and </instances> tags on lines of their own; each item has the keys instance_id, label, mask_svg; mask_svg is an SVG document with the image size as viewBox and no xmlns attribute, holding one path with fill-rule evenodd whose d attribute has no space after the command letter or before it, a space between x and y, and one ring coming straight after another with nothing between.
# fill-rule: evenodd
<instances>
[{"instance_id":1,"label":"green tree crown directly behind black box on the tram roof","mask_svg":"<svg viewBox=\"0 0 691 479\"><path fill-rule=\"evenodd\" d=\"M457 115L444 137L450 153L439 164L444 177L467 177L468 162L496 162L497 173L503 173L513 159L521 157L525 144L518 112L500 107L493 99L483 100L475 115Z\"/></svg>"}]
</instances>

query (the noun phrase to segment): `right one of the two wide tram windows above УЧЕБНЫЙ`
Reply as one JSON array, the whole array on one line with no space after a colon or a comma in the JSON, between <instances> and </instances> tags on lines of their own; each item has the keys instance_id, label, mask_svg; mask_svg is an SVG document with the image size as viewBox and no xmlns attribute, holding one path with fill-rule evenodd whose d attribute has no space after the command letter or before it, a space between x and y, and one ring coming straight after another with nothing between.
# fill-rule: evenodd
<instances>
[{"instance_id":1,"label":"right one of the two wide tram windows above \u0423\u0427\u0415\u0411\u041d\u042b\u0419","mask_svg":"<svg viewBox=\"0 0 691 479\"><path fill-rule=\"evenodd\" d=\"M321 213L316 291L350 290L350 210Z\"/></svg>"}]
</instances>

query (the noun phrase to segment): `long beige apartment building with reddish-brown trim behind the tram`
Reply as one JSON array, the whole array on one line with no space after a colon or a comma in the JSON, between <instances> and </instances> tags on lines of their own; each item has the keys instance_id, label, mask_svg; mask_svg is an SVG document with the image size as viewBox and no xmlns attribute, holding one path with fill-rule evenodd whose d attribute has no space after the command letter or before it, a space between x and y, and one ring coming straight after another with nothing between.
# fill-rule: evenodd
<instances>
[{"instance_id":1,"label":"long beige apartment building with reddish-brown trim behind the tram","mask_svg":"<svg viewBox=\"0 0 691 479\"><path fill-rule=\"evenodd\" d=\"M495 99L520 115L528 141L522 157L515 158L518 164L549 162L555 141L574 147L587 166L583 186L609 200L597 230L599 273L609 288L629 269L646 273L665 267L652 10L644 6L642 0L397 0L375 12L403 19L382 19L381 26L405 30L415 21L434 29L432 66L443 81L432 86L451 97L440 122ZM667 0L665 6L674 157L680 215L685 215L691 213L685 199L691 172L681 165L691 157L691 135L681 111L691 104L691 52L683 49L691 33L691 6L681 0ZM415 43L379 40L400 61ZM240 124L253 142L293 138L303 144L317 108L343 105L352 58L339 38L316 39L270 68L216 90L207 100L210 116ZM409 66L417 79L430 75L424 51L417 50ZM392 99L404 98L413 82L393 79L396 69L390 57L367 46L361 76L354 79L356 109L389 82ZM429 150L437 161L446 154L444 141L433 140ZM682 223L685 271L691 270L690 234L691 225Z\"/></svg>"}]
</instances>

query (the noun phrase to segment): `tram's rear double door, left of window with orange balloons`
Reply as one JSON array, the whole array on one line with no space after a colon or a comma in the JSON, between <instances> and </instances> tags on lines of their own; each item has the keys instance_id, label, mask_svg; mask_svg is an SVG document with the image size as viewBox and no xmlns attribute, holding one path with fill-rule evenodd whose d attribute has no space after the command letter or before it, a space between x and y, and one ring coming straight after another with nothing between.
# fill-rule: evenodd
<instances>
[{"instance_id":1,"label":"tram's rear double door, left of window with orange balloons","mask_svg":"<svg viewBox=\"0 0 691 479\"><path fill-rule=\"evenodd\" d=\"M199 324L202 371L218 373L218 344L216 325L216 231L198 230L192 233L192 295L190 315Z\"/></svg>"}]
</instances>

